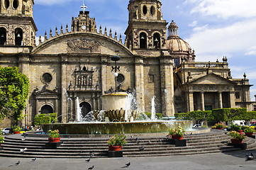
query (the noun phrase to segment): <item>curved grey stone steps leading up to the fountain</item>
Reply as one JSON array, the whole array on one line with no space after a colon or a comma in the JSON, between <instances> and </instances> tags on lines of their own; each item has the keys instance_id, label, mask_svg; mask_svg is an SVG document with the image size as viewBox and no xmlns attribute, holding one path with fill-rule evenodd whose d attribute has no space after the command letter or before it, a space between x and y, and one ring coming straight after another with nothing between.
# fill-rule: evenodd
<instances>
[{"instance_id":1,"label":"curved grey stone steps leading up to the fountain","mask_svg":"<svg viewBox=\"0 0 256 170\"><path fill-rule=\"evenodd\" d=\"M61 138L63 144L57 149L45 149L47 137L23 137L21 135L8 135L4 144L1 145L0 157L23 157L23 158L87 158L90 152L94 157L108 157L109 138ZM232 152L239 150L227 146L230 137L223 130L199 135L185 135L187 147L175 147L169 145L165 137L138 137L138 144L135 137L127 137L127 144L123 146L123 157L163 157L170 155L208 154L216 152ZM150 142L149 142L150 141ZM256 147L256 140L247 137L247 149ZM138 148L145 146L143 151ZM20 149L27 148L21 153Z\"/></svg>"}]
</instances>

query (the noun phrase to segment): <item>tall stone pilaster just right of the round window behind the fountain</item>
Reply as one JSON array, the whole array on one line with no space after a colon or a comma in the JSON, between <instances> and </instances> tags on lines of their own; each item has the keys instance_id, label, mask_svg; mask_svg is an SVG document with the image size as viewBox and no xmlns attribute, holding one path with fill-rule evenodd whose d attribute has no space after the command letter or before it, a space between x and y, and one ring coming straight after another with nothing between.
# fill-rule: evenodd
<instances>
[{"instance_id":1,"label":"tall stone pilaster just right of the round window behind the fountain","mask_svg":"<svg viewBox=\"0 0 256 170\"><path fill-rule=\"evenodd\" d=\"M137 107L139 111L145 111L145 98L144 98L144 61L143 57L135 57L135 88Z\"/></svg>"}]
</instances>

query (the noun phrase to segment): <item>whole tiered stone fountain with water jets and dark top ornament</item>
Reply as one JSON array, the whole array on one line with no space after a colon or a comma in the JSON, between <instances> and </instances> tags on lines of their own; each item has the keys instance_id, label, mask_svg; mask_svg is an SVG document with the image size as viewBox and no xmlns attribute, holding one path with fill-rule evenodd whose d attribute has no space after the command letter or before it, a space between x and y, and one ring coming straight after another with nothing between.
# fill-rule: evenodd
<instances>
[{"instance_id":1,"label":"whole tiered stone fountain with water jets and dark top ornament","mask_svg":"<svg viewBox=\"0 0 256 170\"><path fill-rule=\"evenodd\" d=\"M115 61L114 77L118 77L118 69L116 61L120 57L117 55L111 57ZM116 80L117 81L117 80ZM128 94L126 92L118 92L113 89L109 90L109 94L102 96L103 111L91 111L82 118L81 108L79 107L79 99L77 98L77 122L76 123L56 123L41 125L44 132L50 129L58 129L61 134L132 134L132 133L153 133L168 132L169 128L182 126L184 130L190 130L192 122L187 120L156 120L155 118L155 96L151 101L152 115L148 119L145 113L136 110L135 92ZM167 93L168 91L165 91ZM125 110L124 110L125 109ZM140 120L141 117L145 120Z\"/></svg>"}]
</instances>

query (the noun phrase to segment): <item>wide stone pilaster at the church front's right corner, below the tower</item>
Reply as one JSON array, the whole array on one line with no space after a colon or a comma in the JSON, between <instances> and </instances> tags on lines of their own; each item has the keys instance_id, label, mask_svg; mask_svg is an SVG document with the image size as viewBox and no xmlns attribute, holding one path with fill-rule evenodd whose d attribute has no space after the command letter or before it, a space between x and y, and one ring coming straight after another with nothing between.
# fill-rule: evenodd
<instances>
[{"instance_id":1,"label":"wide stone pilaster at the church front's right corner, below the tower","mask_svg":"<svg viewBox=\"0 0 256 170\"><path fill-rule=\"evenodd\" d=\"M173 62L171 57L160 58L162 114L174 115Z\"/></svg>"}]
</instances>

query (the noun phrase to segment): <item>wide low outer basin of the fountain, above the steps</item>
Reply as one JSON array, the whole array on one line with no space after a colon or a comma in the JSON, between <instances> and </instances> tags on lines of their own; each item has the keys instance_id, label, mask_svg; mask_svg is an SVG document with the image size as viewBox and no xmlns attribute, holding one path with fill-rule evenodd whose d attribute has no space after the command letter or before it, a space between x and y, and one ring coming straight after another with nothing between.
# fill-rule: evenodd
<instances>
[{"instance_id":1,"label":"wide low outer basin of the fountain, above the steps","mask_svg":"<svg viewBox=\"0 0 256 170\"><path fill-rule=\"evenodd\" d=\"M181 126L184 130L190 130L192 121L135 121L127 123L58 123L41 125L44 132L59 130L60 134L130 134L168 132L170 128Z\"/></svg>"}]
</instances>

